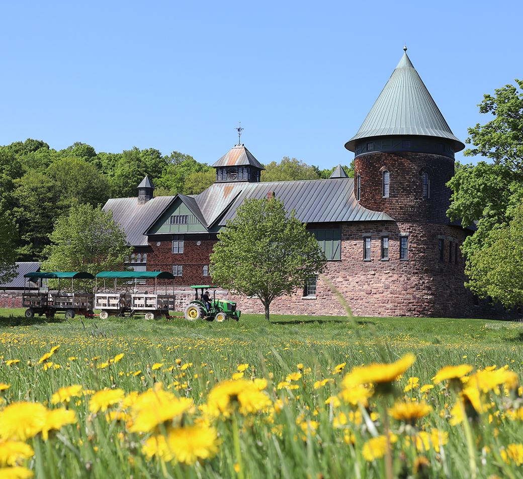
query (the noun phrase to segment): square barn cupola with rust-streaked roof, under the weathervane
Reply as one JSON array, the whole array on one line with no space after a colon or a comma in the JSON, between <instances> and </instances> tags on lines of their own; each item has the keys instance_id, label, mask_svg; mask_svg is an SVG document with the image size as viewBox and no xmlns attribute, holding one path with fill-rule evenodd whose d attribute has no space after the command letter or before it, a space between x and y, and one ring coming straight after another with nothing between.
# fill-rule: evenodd
<instances>
[{"instance_id":1,"label":"square barn cupola with rust-streaked roof, under the weathervane","mask_svg":"<svg viewBox=\"0 0 523 479\"><path fill-rule=\"evenodd\" d=\"M243 144L233 146L214 165L216 182L258 183L261 170L265 168Z\"/></svg>"}]
</instances>

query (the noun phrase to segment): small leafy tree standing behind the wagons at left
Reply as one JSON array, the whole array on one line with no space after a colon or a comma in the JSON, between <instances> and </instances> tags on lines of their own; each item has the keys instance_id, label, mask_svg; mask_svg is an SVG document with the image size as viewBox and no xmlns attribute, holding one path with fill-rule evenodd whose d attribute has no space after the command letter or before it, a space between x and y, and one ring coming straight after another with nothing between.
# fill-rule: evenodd
<instances>
[{"instance_id":1,"label":"small leafy tree standing behind the wagons at left","mask_svg":"<svg viewBox=\"0 0 523 479\"><path fill-rule=\"evenodd\" d=\"M132 252L112 213L90 204L71 207L69 215L56 221L49 238L49 256L42 265L48 271L118 271Z\"/></svg>"}]
</instances>

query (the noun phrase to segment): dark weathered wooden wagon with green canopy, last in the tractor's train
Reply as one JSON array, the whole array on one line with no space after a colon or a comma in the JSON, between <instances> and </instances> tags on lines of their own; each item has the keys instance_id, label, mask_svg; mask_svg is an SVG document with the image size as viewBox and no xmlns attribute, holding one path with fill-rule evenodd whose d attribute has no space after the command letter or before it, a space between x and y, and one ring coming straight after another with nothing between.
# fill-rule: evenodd
<instances>
[{"instance_id":1,"label":"dark weathered wooden wagon with green canopy, last in the tractor's train","mask_svg":"<svg viewBox=\"0 0 523 479\"><path fill-rule=\"evenodd\" d=\"M56 289L50 289L48 280L57 280ZM76 314L93 316L93 293L82 291L75 280L93 280L94 276L85 271L30 272L24 275L24 293L22 306L26 307L25 316L35 315L54 317L56 313L65 313L67 319ZM28 286L28 280L36 288ZM62 289L62 286L64 288Z\"/></svg>"}]
</instances>

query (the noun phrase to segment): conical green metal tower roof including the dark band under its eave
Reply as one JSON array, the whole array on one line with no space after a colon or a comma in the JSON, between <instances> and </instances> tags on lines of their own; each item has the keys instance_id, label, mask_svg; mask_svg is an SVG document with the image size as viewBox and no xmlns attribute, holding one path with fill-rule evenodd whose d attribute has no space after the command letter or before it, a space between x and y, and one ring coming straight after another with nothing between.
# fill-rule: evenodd
<instances>
[{"instance_id":1,"label":"conical green metal tower roof including the dark band under its eave","mask_svg":"<svg viewBox=\"0 0 523 479\"><path fill-rule=\"evenodd\" d=\"M370 152L423 152L454 157L465 145L452 133L407 55L407 47L380 96L345 147Z\"/></svg>"}]
</instances>

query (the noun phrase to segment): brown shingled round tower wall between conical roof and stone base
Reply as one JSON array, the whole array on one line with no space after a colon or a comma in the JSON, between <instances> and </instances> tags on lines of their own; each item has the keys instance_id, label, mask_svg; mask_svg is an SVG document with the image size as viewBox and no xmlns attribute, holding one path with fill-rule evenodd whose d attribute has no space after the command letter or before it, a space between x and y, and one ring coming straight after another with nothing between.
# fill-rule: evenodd
<instances>
[{"instance_id":1,"label":"brown shingled round tower wall between conical roof and stone base","mask_svg":"<svg viewBox=\"0 0 523 479\"><path fill-rule=\"evenodd\" d=\"M390 173L389 198L382 197L382 172ZM430 178L430 196L423 198L422 172ZM354 160L361 176L362 206L384 211L396 221L448 223L451 191L445 185L454 175L454 160L428 153L368 153ZM356 194L356 193L355 193Z\"/></svg>"}]
</instances>

